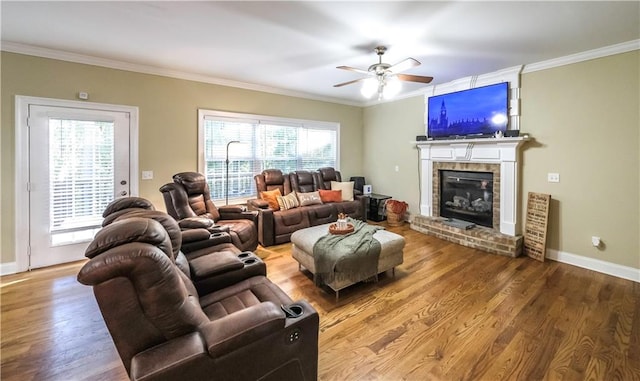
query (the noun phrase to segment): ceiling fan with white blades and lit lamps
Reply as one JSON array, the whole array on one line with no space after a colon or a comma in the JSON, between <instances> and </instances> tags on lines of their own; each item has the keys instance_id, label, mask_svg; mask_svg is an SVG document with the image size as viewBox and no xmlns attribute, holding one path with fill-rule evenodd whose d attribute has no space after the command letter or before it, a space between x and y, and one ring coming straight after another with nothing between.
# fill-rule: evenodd
<instances>
[{"instance_id":1,"label":"ceiling fan with white blades and lit lamps","mask_svg":"<svg viewBox=\"0 0 640 381\"><path fill-rule=\"evenodd\" d=\"M396 95L401 88L400 81L429 83L433 77L425 77L422 75L400 74L400 72L408 70L412 67L420 65L420 61L414 58L407 58L395 65L389 65L382 62L382 55L387 51L384 46L377 46L374 51L378 55L378 63L369 66L369 69L357 69L350 66L338 66L338 69L355 71L356 73L366 74L367 77L354 79L353 81L338 83L333 87L342 87L356 82L364 82L362 86L362 95L367 98L378 93L378 100L382 98L390 98Z\"/></svg>"}]
</instances>

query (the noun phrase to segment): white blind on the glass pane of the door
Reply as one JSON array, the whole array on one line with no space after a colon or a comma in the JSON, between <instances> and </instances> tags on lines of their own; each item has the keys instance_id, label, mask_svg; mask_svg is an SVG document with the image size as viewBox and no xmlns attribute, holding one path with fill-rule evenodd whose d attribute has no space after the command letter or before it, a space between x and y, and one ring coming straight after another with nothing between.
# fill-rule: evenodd
<instances>
[{"instance_id":1,"label":"white blind on the glass pane of the door","mask_svg":"<svg viewBox=\"0 0 640 381\"><path fill-rule=\"evenodd\" d=\"M100 226L114 196L114 123L49 120L50 231Z\"/></svg>"}]
</instances>

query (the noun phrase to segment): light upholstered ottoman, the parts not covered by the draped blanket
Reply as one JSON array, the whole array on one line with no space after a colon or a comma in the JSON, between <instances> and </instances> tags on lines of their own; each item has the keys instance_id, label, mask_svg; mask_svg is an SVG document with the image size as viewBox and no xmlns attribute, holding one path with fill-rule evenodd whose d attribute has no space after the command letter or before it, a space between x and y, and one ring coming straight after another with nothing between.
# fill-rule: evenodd
<instances>
[{"instance_id":1,"label":"light upholstered ottoman, the parts not covered by the draped blanket","mask_svg":"<svg viewBox=\"0 0 640 381\"><path fill-rule=\"evenodd\" d=\"M315 262L313 258L313 246L320 239L320 237L329 234L329 225L318 225L310 228L300 229L291 235L292 256L298 261L299 266L306 268L314 274ZM387 270L392 270L395 275L395 267L402 264L404 249L404 238L401 235L392 233L387 230L378 230L373 238L380 242L380 258L378 260L378 274ZM347 255L348 253L344 253ZM315 280L315 279L314 279ZM333 291L336 292L336 299L339 297L341 289L351 286L365 279L345 279L336 278L330 284L327 284Z\"/></svg>"}]
</instances>

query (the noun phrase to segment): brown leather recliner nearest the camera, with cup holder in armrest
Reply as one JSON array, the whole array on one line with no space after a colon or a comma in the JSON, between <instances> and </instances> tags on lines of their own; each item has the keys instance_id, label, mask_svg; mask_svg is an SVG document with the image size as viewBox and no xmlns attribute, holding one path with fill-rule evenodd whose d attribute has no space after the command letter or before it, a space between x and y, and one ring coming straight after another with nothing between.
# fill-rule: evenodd
<instances>
[{"instance_id":1,"label":"brown leather recliner nearest the camera, with cup holder in armrest","mask_svg":"<svg viewBox=\"0 0 640 381\"><path fill-rule=\"evenodd\" d=\"M293 303L264 276L198 295L174 252L158 221L123 217L98 232L78 274L132 380L317 378L309 303Z\"/></svg>"}]
</instances>

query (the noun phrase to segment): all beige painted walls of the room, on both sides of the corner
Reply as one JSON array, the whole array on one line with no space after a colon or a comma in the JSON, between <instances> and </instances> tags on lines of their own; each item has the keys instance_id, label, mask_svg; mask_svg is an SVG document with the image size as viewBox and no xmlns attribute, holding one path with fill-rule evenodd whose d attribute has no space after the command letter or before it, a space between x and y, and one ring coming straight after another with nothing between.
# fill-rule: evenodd
<instances>
[{"instance_id":1,"label":"all beige painted walls of the room, on both sides of the corner","mask_svg":"<svg viewBox=\"0 0 640 381\"><path fill-rule=\"evenodd\" d=\"M634 51L522 75L521 130L535 141L522 155L521 194L552 195L552 250L640 268L639 56ZM14 260L16 94L74 99L82 90L91 101L138 106L140 169L155 174L140 181L140 194L156 205L162 206L158 188L173 173L196 169L197 108L203 107L338 121L344 176L362 174L374 192L419 211L418 153L410 142L424 133L421 96L363 110L9 53L2 53L1 68L2 262ZM548 183L548 172L560 173L560 183ZM603 249L591 246L594 235Z\"/></svg>"}]
</instances>

